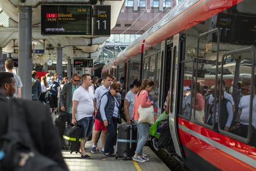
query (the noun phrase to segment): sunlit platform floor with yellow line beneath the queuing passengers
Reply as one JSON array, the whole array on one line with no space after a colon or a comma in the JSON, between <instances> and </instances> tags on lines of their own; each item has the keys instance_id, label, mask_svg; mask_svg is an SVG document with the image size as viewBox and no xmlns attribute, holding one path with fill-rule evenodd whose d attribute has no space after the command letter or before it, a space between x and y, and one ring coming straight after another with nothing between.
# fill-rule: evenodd
<instances>
[{"instance_id":1,"label":"sunlit platform floor with yellow line beneath the queuing passengers","mask_svg":"<svg viewBox=\"0 0 256 171\"><path fill-rule=\"evenodd\" d=\"M52 114L53 121L55 120L55 115ZM139 163L133 161L130 158L126 160L123 159L115 159L113 158L106 158L100 152L95 154L91 153L93 141L88 141L86 143L86 153L91 156L90 159L82 159L79 153L73 152L70 154L70 151L62 150L63 158L66 164L69 167L70 171L82 171L82 170L106 170L106 171L115 171L115 170L122 170L122 171L169 171L170 169L163 163L162 160L157 157L157 155L148 147L144 146L143 154L147 155L149 161L144 163ZM117 146L115 145L115 152ZM101 140L98 142L99 151L101 151Z\"/></svg>"}]
</instances>

